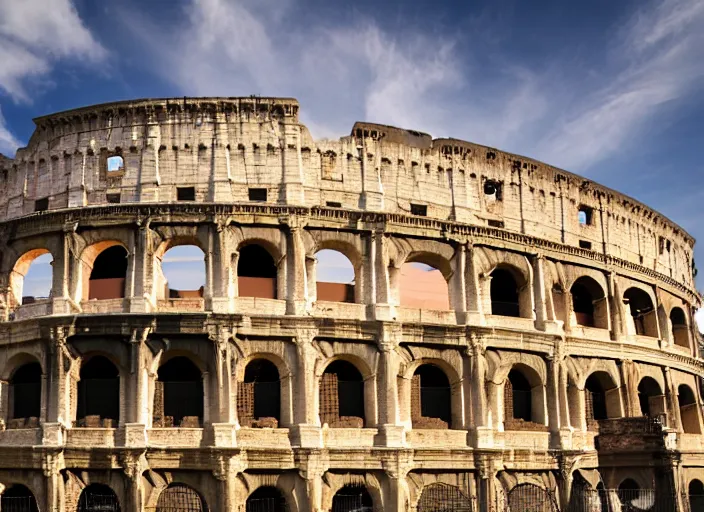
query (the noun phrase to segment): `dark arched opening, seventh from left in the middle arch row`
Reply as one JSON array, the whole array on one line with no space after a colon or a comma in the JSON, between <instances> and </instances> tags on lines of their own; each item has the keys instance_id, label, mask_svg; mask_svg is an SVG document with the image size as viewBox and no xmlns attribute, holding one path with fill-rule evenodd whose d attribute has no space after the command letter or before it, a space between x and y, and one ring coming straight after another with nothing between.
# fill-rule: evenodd
<instances>
[{"instance_id":1,"label":"dark arched opening, seventh from left in the middle arch row","mask_svg":"<svg viewBox=\"0 0 704 512\"><path fill-rule=\"evenodd\" d=\"M514 364L504 381L505 428L539 428L545 425L545 389L538 373Z\"/></svg>"}]
</instances>

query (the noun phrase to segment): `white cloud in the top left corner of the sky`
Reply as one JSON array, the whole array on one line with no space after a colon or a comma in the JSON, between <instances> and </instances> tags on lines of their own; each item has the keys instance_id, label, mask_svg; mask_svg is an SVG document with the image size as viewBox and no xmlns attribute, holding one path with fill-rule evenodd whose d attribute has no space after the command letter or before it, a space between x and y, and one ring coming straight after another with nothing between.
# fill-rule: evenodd
<instances>
[{"instance_id":1,"label":"white cloud in the top left corner of the sky","mask_svg":"<svg viewBox=\"0 0 704 512\"><path fill-rule=\"evenodd\" d=\"M106 55L71 0L0 0L0 89L27 102L27 78L61 59L96 62Z\"/></svg>"}]
</instances>

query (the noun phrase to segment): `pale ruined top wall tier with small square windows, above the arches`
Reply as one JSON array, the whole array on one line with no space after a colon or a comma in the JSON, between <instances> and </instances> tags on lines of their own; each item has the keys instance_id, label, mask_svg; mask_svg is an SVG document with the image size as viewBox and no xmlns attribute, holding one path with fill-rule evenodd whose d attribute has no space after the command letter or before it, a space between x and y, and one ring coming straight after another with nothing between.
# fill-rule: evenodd
<instances>
[{"instance_id":1,"label":"pale ruined top wall tier with small square windows, above the arches","mask_svg":"<svg viewBox=\"0 0 704 512\"><path fill-rule=\"evenodd\" d=\"M369 123L314 141L298 103L274 98L184 98L97 105L35 120L14 161L0 162L0 212L176 201L240 203L249 188L267 202L427 215L502 227L642 265L693 288L694 240L647 206L525 157L454 139ZM108 173L110 155L125 169ZM484 193L487 181L501 200ZM580 225L580 206L591 208ZM581 243L581 244L580 244ZM661 248L662 247L662 248Z\"/></svg>"}]
</instances>

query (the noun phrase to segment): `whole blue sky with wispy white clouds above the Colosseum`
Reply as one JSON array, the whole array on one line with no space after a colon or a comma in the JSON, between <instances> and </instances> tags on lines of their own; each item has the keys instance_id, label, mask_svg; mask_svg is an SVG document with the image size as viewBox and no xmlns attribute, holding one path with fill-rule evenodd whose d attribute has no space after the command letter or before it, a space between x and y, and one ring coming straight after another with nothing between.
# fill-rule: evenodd
<instances>
[{"instance_id":1,"label":"whole blue sky with wispy white clouds above the Colosseum","mask_svg":"<svg viewBox=\"0 0 704 512\"><path fill-rule=\"evenodd\" d=\"M0 0L0 152L91 103L293 96L316 138L376 121L594 179L702 268L703 93L704 0Z\"/></svg>"}]
</instances>

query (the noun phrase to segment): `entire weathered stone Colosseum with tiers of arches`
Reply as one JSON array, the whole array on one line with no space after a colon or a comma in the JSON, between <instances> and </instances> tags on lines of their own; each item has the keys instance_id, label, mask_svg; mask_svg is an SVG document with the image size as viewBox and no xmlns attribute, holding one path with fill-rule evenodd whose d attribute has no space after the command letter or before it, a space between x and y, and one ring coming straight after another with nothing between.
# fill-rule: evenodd
<instances>
[{"instance_id":1,"label":"entire weathered stone Colosseum with tiers of arches","mask_svg":"<svg viewBox=\"0 0 704 512\"><path fill-rule=\"evenodd\" d=\"M694 240L658 212L461 140L315 141L288 98L35 124L0 156L2 512L704 510Z\"/></svg>"}]
</instances>

